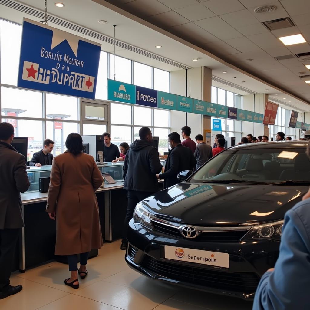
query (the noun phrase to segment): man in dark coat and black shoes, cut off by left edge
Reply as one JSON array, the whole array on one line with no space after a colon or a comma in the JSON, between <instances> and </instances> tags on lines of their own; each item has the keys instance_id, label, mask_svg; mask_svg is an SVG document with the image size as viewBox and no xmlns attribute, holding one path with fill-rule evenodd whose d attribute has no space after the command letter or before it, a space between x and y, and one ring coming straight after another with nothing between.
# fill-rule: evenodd
<instances>
[{"instance_id":1,"label":"man in dark coat and black shoes, cut off by left edge","mask_svg":"<svg viewBox=\"0 0 310 310\"><path fill-rule=\"evenodd\" d=\"M0 123L0 299L16 294L22 286L11 286L10 275L20 228L24 227L20 192L30 186L24 155L11 146L14 127Z\"/></svg>"}]
</instances>

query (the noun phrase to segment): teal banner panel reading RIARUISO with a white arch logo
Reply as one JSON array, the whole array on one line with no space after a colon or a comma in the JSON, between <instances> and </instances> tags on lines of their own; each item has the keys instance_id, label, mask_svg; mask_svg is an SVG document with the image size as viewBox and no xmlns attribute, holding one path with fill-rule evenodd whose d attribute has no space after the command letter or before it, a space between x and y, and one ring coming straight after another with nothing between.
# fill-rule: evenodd
<instances>
[{"instance_id":1,"label":"teal banner panel reading RIARUISO with a white arch logo","mask_svg":"<svg viewBox=\"0 0 310 310\"><path fill-rule=\"evenodd\" d=\"M135 85L108 79L108 100L135 104Z\"/></svg>"}]
</instances>

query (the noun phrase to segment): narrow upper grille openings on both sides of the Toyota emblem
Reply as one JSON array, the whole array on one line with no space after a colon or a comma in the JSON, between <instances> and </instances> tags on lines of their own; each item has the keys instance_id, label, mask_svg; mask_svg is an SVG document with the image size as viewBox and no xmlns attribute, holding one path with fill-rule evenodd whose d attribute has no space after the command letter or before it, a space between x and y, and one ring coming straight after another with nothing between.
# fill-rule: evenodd
<instances>
[{"instance_id":1,"label":"narrow upper grille openings on both sides of the Toyota emblem","mask_svg":"<svg viewBox=\"0 0 310 310\"><path fill-rule=\"evenodd\" d=\"M168 234L170 236L181 237L186 239L182 236L181 232L176 227L167 226L155 221L152 221L154 229ZM248 231L248 228L245 230L231 230L231 231L214 231L214 232L201 232L199 236L193 238L193 241L202 241L202 242L224 242L224 241L239 241Z\"/></svg>"}]
</instances>

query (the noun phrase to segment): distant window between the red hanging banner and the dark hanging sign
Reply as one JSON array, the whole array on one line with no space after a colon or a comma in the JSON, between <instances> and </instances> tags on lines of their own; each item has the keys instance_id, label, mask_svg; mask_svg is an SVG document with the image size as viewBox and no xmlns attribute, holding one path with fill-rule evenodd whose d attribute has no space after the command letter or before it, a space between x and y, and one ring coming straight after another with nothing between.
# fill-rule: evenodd
<instances>
[{"instance_id":1,"label":"distant window between the red hanging banner and the dark hanging sign","mask_svg":"<svg viewBox=\"0 0 310 310\"><path fill-rule=\"evenodd\" d=\"M290 136L296 139L296 129L289 127L290 116L292 111L285 108L278 107L277 117L274 125L268 125L270 139L276 140L277 132L284 132L285 136Z\"/></svg>"}]
</instances>

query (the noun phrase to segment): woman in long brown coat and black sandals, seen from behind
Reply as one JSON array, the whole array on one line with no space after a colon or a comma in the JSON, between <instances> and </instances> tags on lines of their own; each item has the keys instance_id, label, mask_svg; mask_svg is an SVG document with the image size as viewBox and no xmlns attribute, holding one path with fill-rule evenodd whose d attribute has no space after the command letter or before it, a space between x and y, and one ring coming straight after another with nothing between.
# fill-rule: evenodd
<instances>
[{"instance_id":1,"label":"woman in long brown coat and black sandals, seen from behind","mask_svg":"<svg viewBox=\"0 0 310 310\"><path fill-rule=\"evenodd\" d=\"M56 218L55 255L68 255L71 277L64 283L78 288L78 273L82 279L87 275L89 251L103 245L95 195L103 178L94 158L82 153L78 133L68 135L66 148L53 160L46 211Z\"/></svg>"}]
</instances>

